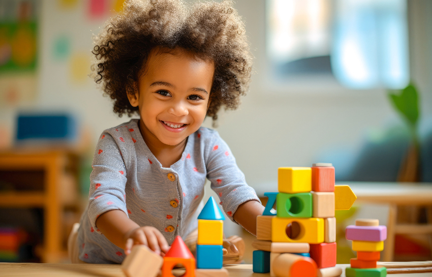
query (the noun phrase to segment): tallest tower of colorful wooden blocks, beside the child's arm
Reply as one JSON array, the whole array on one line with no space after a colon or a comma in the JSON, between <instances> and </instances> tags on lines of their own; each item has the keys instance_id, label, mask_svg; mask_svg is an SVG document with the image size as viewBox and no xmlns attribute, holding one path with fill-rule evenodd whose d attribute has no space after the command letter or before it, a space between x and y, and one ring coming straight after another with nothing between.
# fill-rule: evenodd
<instances>
[{"instance_id":1,"label":"tallest tower of colorful wooden blocks, beside the child's arm","mask_svg":"<svg viewBox=\"0 0 432 277\"><path fill-rule=\"evenodd\" d=\"M336 267L334 167L281 167L278 189L264 194L268 202L257 217L254 272L270 272L271 277L341 275ZM271 212L275 202L276 216Z\"/></svg>"}]
</instances>

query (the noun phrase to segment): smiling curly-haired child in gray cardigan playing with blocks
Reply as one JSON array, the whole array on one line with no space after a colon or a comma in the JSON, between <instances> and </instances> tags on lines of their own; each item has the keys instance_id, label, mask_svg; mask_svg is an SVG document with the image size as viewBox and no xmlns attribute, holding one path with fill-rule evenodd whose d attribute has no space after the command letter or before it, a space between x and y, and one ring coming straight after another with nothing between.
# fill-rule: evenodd
<instances>
[{"instance_id":1,"label":"smiling curly-haired child in gray cardigan playing with blocks","mask_svg":"<svg viewBox=\"0 0 432 277\"><path fill-rule=\"evenodd\" d=\"M164 255L196 230L206 178L228 218L255 234L264 207L228 145L201 127L248 89L251 56L232 3L128 1L95 41L96 82L114 112L140 118L101 134L79 259L121 263L137 243Z\"/></svg>"}]
</instances>

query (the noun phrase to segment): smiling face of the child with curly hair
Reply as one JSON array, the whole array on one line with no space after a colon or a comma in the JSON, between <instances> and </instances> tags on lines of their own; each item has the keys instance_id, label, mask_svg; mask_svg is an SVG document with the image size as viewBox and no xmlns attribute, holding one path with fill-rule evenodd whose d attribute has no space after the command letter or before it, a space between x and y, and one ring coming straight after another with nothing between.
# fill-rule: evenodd
<instances>
[{"instance_id":1,"label":"smiling face of the child with curly hair","mask_svg":"<svg viewBox=\"0 0 432 277\"><path fill-rule=\"evenodd\" d=\"M152 51L144 73L137 93L128 95L129 101L139 107L151 135L164 144L177 145L196 132L205 118L214 65L182 50L174 54Z\"/></svg>"}]
</instances>

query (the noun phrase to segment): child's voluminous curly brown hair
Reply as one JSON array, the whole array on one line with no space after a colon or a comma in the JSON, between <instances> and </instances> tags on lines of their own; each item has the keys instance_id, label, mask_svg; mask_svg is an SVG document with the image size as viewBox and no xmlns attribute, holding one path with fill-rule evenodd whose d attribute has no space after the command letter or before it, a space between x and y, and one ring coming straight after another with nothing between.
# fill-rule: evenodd
<instances>
[{"instance_id":1,"label":"child's voluminous curly brown hair","mask_svg":"<svg viewBox=\"0 0 432 277\"><path fill-rule=\"evenodd\" d=\"M249 88L252 57L244 24L231 1L130 0L110 19L91 51L96 83L114 102L118 116L138 112L127 94L135 94L140 70L151 49L181 48L214 63L207 116L218 118L222 106L236 109Z\"/></svg>"}]
</instances>

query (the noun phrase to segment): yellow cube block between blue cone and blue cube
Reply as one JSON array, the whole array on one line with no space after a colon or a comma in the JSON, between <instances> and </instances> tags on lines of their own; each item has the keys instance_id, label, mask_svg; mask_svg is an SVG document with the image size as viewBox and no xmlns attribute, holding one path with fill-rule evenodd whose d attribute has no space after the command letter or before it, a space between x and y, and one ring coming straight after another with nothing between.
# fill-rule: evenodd
<instances>
[{"instance_id":1,"label":"yellow cube block between blue cone and blue cube","mask_svg":"<svg viewBox=\"0 0 432 277\"><path fill-rule=\"evenodd\" d=\"M222 245L224 222L222 220L198 220L198 244Z\"/></svg>"}]
</instances>

